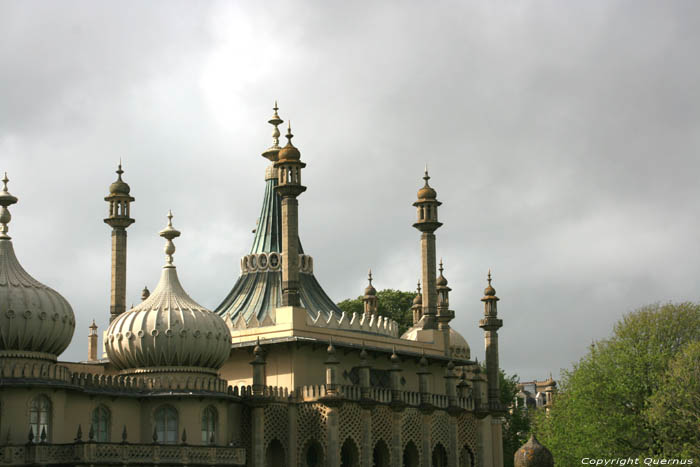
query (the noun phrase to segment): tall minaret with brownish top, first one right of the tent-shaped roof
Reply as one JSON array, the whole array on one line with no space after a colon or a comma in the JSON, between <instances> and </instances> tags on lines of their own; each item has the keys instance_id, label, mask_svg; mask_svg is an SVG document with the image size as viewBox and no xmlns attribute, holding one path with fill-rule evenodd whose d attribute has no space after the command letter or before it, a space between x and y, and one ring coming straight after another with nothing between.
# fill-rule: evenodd
<instances>
[{"instance_id":1,"label":"tall minaret with brownish top, first one right of the tent-shaped roof","mask_svg":"<svg viewBox=\"0 0 700 467\"><path fill-rule=\"evenodd\" d=\"M418 190L418 200L413 203L417 209L418 220L413 227L421 231L421 277L423 279L423 329L437 327L437 291L435 290L435 231L442 223L438 222L437 208L442 203L437 200L437 193L428 185L428 167L425 168L425 185Z\"/></svg>"}]
</instances>

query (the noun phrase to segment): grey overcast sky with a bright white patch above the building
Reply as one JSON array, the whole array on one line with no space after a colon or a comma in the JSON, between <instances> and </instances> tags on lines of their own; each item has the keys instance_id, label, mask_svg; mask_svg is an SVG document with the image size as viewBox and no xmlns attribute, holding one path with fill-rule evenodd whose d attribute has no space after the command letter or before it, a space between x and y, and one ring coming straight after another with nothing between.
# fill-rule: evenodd
<instances>
[{"instance_id":1,"label":"grey overcast sky with a bright white patch above the building","mask_svg":"<svg viewBox=\"0 0 700 467\"><path fill-rule=\"evenodd\" d=\"M623 314L700 300L700 3L0 2L0 170L22 265L77 318L109 317L103 197L136 198L127 303L181 281L214 308L252 241L279 99L301 150L300 235L336 301L413 290L427 163L453 326L501 366L569 368Z\"/></svg>"}]
</instances>

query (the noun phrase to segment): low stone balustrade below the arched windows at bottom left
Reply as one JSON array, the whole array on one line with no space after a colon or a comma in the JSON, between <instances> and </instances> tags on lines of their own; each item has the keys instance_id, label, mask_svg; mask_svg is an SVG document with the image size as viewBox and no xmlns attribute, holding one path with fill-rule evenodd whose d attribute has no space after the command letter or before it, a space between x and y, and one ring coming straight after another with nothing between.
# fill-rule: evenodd
<instances>
[{"instance_id":1,"label":"low stone balustrade below the arched windows at bottom left","mask_svg":"<svg viewBox=\"0 0 700 467\"><path fill-rule=\"evenodd\" d=\"M0 465L245 465L233 446L74 442L0 446Z\"/></svg>"}]
</instances>

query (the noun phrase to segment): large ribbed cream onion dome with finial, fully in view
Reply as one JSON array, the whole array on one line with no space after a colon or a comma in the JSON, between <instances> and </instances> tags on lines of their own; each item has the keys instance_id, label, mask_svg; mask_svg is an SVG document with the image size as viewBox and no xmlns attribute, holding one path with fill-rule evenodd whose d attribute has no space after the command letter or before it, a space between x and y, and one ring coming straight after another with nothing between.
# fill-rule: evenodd
<instances>
[{"instance_id":1,"label":"large ribbed cream onion dome with finial, fully in view","mask_svg":"<svg viewBox=\"0 0 700 467\"><path fill-rule=\"evenodd\" d=\"M167 262L158 285L107 329L105 350L120 370L215 372L229 356L231 334L226 323L187 295L177 277L172 240L180 232L172 217L168 213L168 225L160 231L166 239Z\"/></svg>"}]
</instances>

